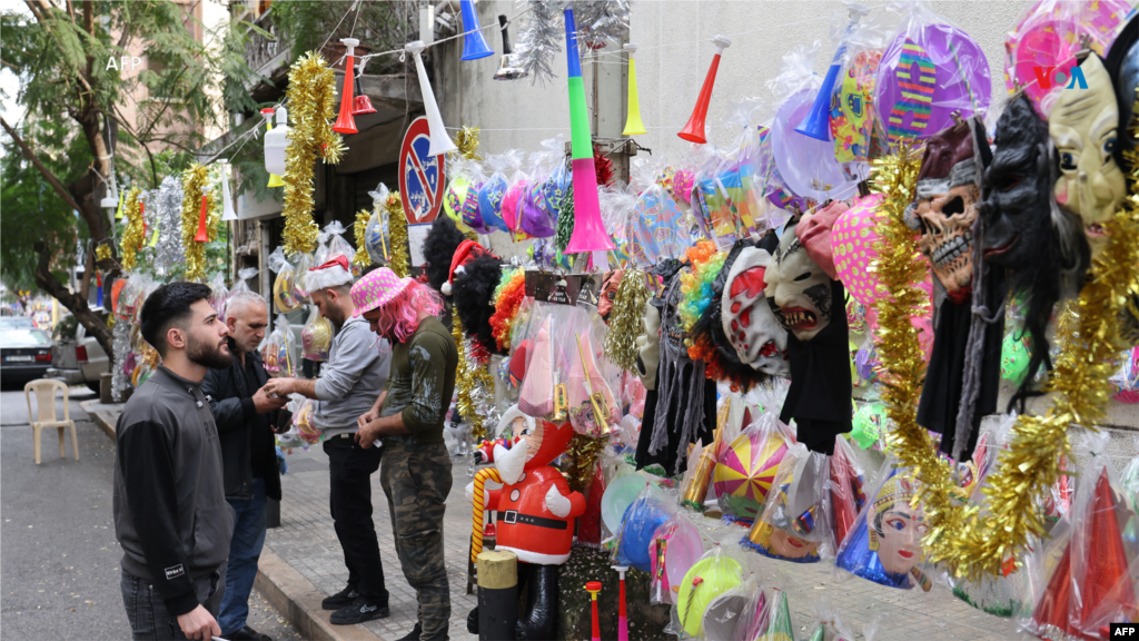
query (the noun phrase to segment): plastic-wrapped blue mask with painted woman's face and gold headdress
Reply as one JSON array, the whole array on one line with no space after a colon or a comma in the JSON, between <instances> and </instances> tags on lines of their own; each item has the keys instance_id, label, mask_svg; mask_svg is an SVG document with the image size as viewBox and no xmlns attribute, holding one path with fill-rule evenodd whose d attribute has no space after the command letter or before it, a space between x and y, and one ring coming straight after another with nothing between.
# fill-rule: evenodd
<instances>
[{"instance_id":1,"label":"plastic-wrapped blue mask with painted woman's face and gold headdress","mask_svg":"<svg viewBox=\"0 0 1139 641\"><path fill-rule=\"evenodd\" d=\"M886 459L866 506L838 547L836 567L887 587L933 587L919 567L927 526L921 508L910 505L916 489L911 477L895 457Z\"/></svg>"}]
</instances>

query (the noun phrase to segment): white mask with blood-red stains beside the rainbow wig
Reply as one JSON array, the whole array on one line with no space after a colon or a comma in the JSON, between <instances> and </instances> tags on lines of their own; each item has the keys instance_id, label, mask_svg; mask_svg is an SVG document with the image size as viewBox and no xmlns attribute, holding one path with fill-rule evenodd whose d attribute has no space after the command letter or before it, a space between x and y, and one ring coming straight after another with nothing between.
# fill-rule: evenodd
<instances>
[{"instance_id":1,"label":"white mask with blood-red stains beside the rainbow wig","mask_svg":"<svg viewBox=\"0 0 1139 641\"><path fill-rule=\"evenodd\" d=\"M767 250L745 248L739 252L724 282L721 320L741 363L764 374L787 378L787 331L771 313L763 293L770 261Z\"/></svg>"}]
</instances>

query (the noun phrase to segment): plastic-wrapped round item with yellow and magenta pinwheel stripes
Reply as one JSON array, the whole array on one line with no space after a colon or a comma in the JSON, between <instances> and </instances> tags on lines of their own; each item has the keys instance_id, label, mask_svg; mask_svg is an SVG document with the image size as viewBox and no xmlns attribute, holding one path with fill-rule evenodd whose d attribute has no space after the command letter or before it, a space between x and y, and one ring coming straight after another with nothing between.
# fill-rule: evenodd
<instances>
[{"instance_id":1,"label":"plastic-wrapped round item with yellow and magenta pinwheel stripes","mask_svg":"<svg viewBox=\"0 0 1139 641\"><path fill-rule=\"evenodd\" d=\"M764 412L721 447L712 482L724 517L752 521L760 514L779 462L794 443L787 425Z\"/></svg>"}]
</instances>

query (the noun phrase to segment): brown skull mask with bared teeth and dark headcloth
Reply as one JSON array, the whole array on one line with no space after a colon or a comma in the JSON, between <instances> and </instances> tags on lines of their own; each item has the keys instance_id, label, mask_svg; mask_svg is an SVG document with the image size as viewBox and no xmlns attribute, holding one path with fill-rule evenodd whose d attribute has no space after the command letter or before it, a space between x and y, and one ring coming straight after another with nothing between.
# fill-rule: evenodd
<instances>
[{"instance_id":1,"label":"brown skull mask with bared teeth and dark headcloth","mask_svg":"<svg viewBox=\"0 0 1139 641\"><path fill-rule=\"evenodd\" d=\"M920 230L918 246L933 274L954 301L973 291L973 222L980 196L969 127L953 125L926 145L918 173L917 200L906 221Z\"/></svg>"}]
</instances>

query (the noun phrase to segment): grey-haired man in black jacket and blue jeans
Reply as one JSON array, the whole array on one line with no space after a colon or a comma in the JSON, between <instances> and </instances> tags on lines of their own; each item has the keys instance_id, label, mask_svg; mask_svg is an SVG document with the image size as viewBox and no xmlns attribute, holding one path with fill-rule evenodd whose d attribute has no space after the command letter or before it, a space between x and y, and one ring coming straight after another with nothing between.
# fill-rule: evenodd
<instances>
[{"instance_id":1,"label":"grey-haired man in black jacket and blue jeans","mask_svg":"<svg viewBox=\"0 0 1139 641\"><path fill-rule=\"evenodd\" d=\"M249 591L257 576L257 559L265 543L265 497L280 501L271 419L288 398L274 398L262 386L269 380L257 354L265 338L269 310L252 292L235 294L226 307L229 367L210 370L202 391L210 398L221 439L226 501L237 518L229 547L226 597L221 602L221 636L229 641L272 641L247 626Z\"/></svg>"}]
</instances>

